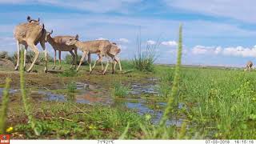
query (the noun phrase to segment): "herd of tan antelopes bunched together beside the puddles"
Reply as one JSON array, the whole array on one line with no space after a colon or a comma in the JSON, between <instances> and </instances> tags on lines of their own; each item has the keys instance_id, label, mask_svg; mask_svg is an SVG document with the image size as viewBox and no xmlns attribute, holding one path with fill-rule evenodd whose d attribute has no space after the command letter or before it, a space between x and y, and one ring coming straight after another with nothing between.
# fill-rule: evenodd
<instances>
[{"instance_id":1,"label":"herd of tan antelopes bunched together beside the puddles","mask_svg":"<svg viewBox=\"0 0 256 144\"><path fill-rule=\"evenodd\" d=\"M96 63L101 62L102 64L102 58L105 57L108 59L106 63L106 67L104 69L104 66L102 64L102 74L106 74L107 67L109 66L109 63L112 63L112 73L114 73L114 69L116 64L118 63L120 71L122 71L122 66L120 63L120 59L118 58L118 54L120 53L120 48L118 45L114 42L110 42L109 40L94 40L94 41L86 41L81 42L78 40L78 34L75 36L56 36L52 37L51 34L53 34L53 30L50 32L47 32L45 29L44 24L40 24L40 19L38 20L30 18L30 16L27 17L27 22L21 23L18 26L14 28L14 38L17 41L17 48L18 48L18 59L17 59L17 65L15 66L15 70L18 70L19 66L19 51L21 46L25 47L24 50L24 68L26 67L26 51L28 46L30 46L30 49L34 51L35 56L34 60L27 72L30 72L34 66L34 63L36 62L39 50L36 46L38 42L40 42L40 45L42 46L42 50L44 50L45 54L45 68L44 72L47 72L47 50L46 50L46 42L49 42L50 45L54 49L54 67L56 67L56 51L58 50L58 61L59 61L59 69L61 69L61 53L62 51L69 51L73 58L73 65L77 65L77 58L78 58L78 50L82 50L82 58L79 62L77 70L79 70L82 62L87 57L88 62L90 65L90 54L97 54L98 59L94 62L94 66ZM74 52L73 52L74 51ZM94 66L91 67L90 65L90 73L92 70L94 70Z\"/></svg>"}]
</instances>

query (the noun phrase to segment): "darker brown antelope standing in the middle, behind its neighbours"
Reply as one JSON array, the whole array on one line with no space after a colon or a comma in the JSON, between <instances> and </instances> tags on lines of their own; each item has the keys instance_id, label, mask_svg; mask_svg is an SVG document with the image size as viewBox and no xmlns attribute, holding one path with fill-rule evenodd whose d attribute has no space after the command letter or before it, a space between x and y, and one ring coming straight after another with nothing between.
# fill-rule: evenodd
<instances>
[{"instance_id":1,"label":"darker brown antelope standing in the middle, behind its neighbours","mask_svg":"<svg viewBox=\"0 0 256 144\"><path fill-rule=\"evenodd\" d=\"M50 35L53 34L53 30L51 32L46 33L46 42L49 42L50 45L54 48L54 68L56 67L56 50L58 50L58 63L59 69L62 69L62 51L69 51L73 57L73 64L77 66L77 59L78 59L78 48L76 46L69 46L66 45L66 41L70 39L78 40L78 34L73 36L56 36L52 38ZM74 50L74 53L73 53Z\"/></svg>"}]
</instances>

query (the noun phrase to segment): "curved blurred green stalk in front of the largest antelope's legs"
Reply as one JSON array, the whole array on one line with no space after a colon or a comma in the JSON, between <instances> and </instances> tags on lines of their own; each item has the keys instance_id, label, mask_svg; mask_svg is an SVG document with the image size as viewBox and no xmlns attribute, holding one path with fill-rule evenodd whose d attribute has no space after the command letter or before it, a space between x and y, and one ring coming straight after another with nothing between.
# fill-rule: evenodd
<instances>
[{"instance_id":1,"label":"curved blurred green stalk in front of the largest antelope's legs","mask_svg":"<svg viewBox=\"0 0 256 144\"><path fill-rule=\"evenodd\" d=\"M26 90L25 90L25 76L24 76L24 50L22 50L21 53L21 62L20 62L20 68L19 68L19 75L20 75L20 85L21 85L21 90L22 90L22 102L25 108L25 113L29 119L30 125L32 129L34 130L34 134L40 135L36 128L36 124L33 118L33 115L31 114L31 106L30 103L27 101L26 98Z\"/></svg>"}]
</instances>

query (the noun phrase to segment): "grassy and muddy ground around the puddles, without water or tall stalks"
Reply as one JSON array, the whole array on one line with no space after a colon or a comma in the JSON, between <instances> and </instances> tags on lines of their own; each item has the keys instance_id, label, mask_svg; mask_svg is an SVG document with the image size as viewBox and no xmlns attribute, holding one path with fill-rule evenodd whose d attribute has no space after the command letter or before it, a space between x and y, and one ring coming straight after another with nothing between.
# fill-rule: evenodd
<instances>
[{"instance_id":1,"label":"grassy and muddy ground around the puddles, without water or tall stalks","mask_svg":"<svg viewBox=\"0 0 256 144\"><path fill-rule=\"evenodd\" d=\"M130 63L122 63L125 70L132 70ZM119 138L128 122L130 126L126 138L146 138L141 125L154 130L155 124L150 122L151 115L138 114L125 105L118 105L118 101L134 98L136 102L136 99L146 98L151 109L163 111L154 102L167 101L174 79L174 67L170 66L155 66L154 72L148 73L133 70L128 74L105 76L98 75L99 72L89 74L82 70L74 77L66 75L65 70L59 74L43 74L42 67L36 66L38 73L25 74L28 95L29 91L43 87L68 97L69 89L70 93L76 94L76 88L72 88L70 82L90 82L104 87L111 97L116 97L116 102L111 105L89 105L30 98L32 114L40 131L40 136L36 136L30 125L27 125L20 94L13 94L10 97L7 127L14 127L10 132L14 138ZM63 65L64 69L67 67ZM83 66L83 69L87 68ZM0 73L1 86L4 86L4 79L10 77L10 88L17 89L18 73L13 70L2 70ZM256 138L255 75L255 72L242 70L182 67L178 95L174 98L170 114L170 118L182 118L182 122L186 122L186 134L182 138ZM158 94L137 97L126 95L130 83L146 83L148 78L157 79ZM122 82L122 86L126 87L120 88L116 82ZM124 110L127 112L123 113ZM181 126L167 127L171 131L170 138L178 138Z\"/></svg>"}]
</instances>

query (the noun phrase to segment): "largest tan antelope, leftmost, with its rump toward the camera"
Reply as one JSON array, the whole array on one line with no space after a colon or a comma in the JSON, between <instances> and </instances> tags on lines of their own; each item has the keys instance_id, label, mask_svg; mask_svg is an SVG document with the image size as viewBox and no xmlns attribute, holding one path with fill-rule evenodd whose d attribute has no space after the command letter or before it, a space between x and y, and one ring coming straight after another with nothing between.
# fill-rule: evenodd
<instances>
[{"instance_id":1,"label":"largest tan antelope, leftmost, with its rump toward the camera","mask_svg":"<svg viewBox=\"0 0 256 144\"><path fill-rule=\"evenodd\" d=\"M27 47L30 46L30 49L34 51L34 61L32 62L30 68L26 70L27 72L30 72L34 66L34 62L38 59L39 51L38 47L36 46L38 42L40 42L40 45L42 46L42 50L44 50L45 53L45 69L44 72L47 71L47 51L46 51L46 45L45 45L45 37L46 37L46 30L44 27L44 24L42 26L38 22L26 22L21 23L18 26L15 26L14 28L14 38L17 41L17 65L15 66L15 70L18 70L19 65L19 50L20 46L25 46L24 50L24 68L26 66L26 50Z\"/></svg>"}]
</instances>

